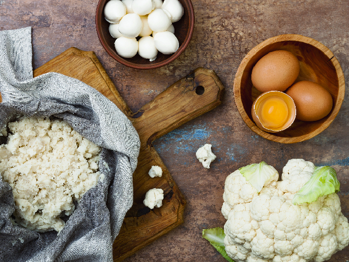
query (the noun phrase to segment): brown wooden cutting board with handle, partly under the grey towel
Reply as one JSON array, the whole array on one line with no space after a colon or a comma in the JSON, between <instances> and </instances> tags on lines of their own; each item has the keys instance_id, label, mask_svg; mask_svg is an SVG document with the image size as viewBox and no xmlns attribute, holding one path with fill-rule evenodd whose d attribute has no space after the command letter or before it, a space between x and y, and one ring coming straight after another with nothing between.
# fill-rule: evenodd
<instances>
[{"instance_id":1,"label":"brown wooden cutting board with handle, partly under the grey towel","mask_svg":"<svg viewBox=\"0 0 349 262\"><path fill-rule=\"evenodd\" d=\"M197 68L133 113L94 52L71 47L34 70L34 77L47 72L71 76L96 88L129 117L140 136L141 149L133 174L134 204L113 245L114 261L122 261L183 223L184 196L152 142L219 105L224 87L213 71ZM148 175L152 165L163 169L161 178ZM154 210L143 205L146 192L152 188L164 190L163 206Z\"/></svg>"}]
</instances>

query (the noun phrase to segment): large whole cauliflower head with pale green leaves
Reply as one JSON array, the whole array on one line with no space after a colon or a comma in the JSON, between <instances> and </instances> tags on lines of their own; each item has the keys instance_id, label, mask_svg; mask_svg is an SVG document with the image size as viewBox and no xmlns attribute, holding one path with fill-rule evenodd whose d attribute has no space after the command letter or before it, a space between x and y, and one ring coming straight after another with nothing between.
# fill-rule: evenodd
<instances>
[{"instance_id":1,"label":"large whole cauliflower head with pale green leaves","mask_svg":"<svg viewBox=\"0 0 349 262\"><path fill-rule=\"evenodd\" d=\"M348 246L349 224L335 193L340 183L333 168L292 159L277 180L276 170L264 162L230 174L224 233L204 230L203 237L235 262L323 262Z\"/></svg>"}]
</instances>

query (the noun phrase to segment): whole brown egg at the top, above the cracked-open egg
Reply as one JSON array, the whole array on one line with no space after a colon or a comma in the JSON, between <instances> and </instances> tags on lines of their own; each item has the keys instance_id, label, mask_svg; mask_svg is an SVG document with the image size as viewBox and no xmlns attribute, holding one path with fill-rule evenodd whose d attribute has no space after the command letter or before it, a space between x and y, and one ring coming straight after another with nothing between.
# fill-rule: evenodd
<instances>
[{"instance_id":1,"label":"whole brown egg at the top, above the cracked-open egg","mask_svg":"<svg viewBox=\"0 0 349 262\"><path fill-rule=\"evenodd\" d=\"M252 84L262 93L285 91L296 80L300 70L297 57L286 50L264 55L252 69Z\"/></svg>"}]
</instances>

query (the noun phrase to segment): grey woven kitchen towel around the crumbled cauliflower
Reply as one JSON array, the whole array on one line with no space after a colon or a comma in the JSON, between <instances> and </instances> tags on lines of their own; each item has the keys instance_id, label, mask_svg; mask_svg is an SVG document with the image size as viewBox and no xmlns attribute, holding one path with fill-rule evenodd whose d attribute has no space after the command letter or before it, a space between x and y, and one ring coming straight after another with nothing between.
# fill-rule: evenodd
<instances>
[{"instance_id":1,"label":"grey woven kitchen towel around the crumbled cauliflower","mask_svg":"<svg viewBox=\"0 0 349 262\"><path fill-rule=\"evenodd\" d=\"M57 235L11 224L12 190L0 176L0 261L112 262L113 241L133 201L138 134L111 101L83 82L58 73L33 78L31 58L30 27L0 31L0 129L17 115L62 118L103 147L105 179L83 195Z\"/></svg>"}]
</instances>

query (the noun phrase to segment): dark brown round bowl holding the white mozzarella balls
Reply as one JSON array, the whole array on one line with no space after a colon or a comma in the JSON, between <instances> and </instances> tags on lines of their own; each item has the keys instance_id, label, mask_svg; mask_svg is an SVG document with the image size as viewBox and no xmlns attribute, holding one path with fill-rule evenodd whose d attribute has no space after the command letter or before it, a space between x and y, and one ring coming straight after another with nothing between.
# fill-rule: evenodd
<instances>
[{"instance_id":1,"label":"dark brown round bowl holding the white mozzarella balls","mask_svg":"<svg viewBox=\"0 0 349 262\"><path fill-rule=\"evenodd\" d=\"M153 62L149 59L142 58L139 54L136 54L132 58L123 58L116 53L113 38L109 33L109 22L104 18L104 6L109 0L99 0L96 9L96 29L98 38L103 45L107 53L117 60L119 63L136 68L136 69L154 69L164 65L167 65L174 61L188 46L189 41L194 30L194 9L190 0L179 0L184 7L184 14L179 21L174 22L174 35L179 41L179 48L173 54L163 54L158 52L157 59ZM139 37L137 37L138 39Z\"/></svg>"}]
</instances>

